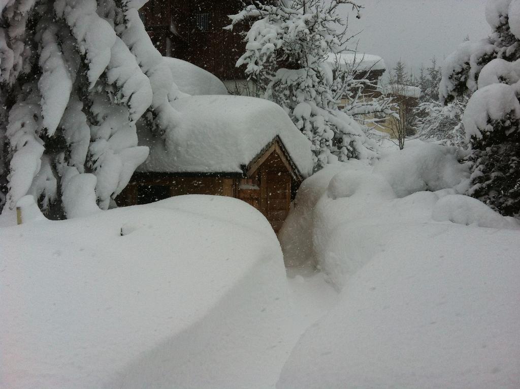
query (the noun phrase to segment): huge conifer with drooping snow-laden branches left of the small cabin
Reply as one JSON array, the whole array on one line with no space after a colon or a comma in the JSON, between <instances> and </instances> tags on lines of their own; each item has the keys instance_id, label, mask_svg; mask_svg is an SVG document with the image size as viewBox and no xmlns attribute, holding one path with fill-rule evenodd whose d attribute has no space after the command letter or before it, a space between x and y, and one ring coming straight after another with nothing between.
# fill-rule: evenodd
<instances>
[{"instance_id":1,"label":"huge conifer with drooping snow-laden branches left of the small cabin","mask_svg":"<svg viewBox=\"0 0 520 389\"><path fill-rule=\"evenodd\" d=\"M143 0L0 3L0 185L67 217L107 209L148 155L136 121L175 121L178 92L137 9Z\"/></svg>"}]
</instances>

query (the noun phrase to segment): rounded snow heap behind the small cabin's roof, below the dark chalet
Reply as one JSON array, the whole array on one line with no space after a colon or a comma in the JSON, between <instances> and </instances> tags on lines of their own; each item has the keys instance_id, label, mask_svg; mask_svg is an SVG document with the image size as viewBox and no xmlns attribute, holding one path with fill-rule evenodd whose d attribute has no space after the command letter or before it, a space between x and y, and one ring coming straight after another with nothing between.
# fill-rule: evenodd
<instances>
[{"instance_id":1,"label":"rounded snow heap behind the small cabin's roof, below the dark chalet","mask_svg":"<svg viewBox=\"0 0 520 389\"><path fill-rule=\"evenodd\" d=\"M227 95L226 86L209 71L182 59L164 57L181 92L192 96Z\"/></svg>"}]
</instances>

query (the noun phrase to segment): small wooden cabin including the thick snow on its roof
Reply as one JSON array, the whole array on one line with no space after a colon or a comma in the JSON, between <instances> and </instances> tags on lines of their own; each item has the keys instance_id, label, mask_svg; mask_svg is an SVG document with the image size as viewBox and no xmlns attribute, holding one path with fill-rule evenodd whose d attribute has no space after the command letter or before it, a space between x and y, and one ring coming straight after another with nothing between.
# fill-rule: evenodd
<instances>
[{"instance_id":1,"label":"small wooden cabin including the thick snow on its roof","mask_svg":"<svg viewBox=\"0 0 520 389\"><path fill-rule=\"evenodd\" d=\"M174 108L180 122L164 140L140 130L140 144L150 148L150 156L118 204L186 194L235 197L261 211L278 232L313 169L305 135L282 108L264 99L190 96Z\"/></svg>"}]
</instances>

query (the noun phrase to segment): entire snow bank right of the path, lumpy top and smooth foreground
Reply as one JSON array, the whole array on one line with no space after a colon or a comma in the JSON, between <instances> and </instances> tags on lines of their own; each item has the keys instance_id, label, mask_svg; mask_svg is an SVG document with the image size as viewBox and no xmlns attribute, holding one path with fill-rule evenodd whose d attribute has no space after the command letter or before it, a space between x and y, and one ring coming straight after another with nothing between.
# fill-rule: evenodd
<instances>
[{"instance_id":1,"label":"entire snow bank right of the path, lumpy top and smooth foreground","mask_svg":"<svg viewBox=\"0 0 520 389\"><path fill-rule=\"evenodd\" d=\"M341 293L277 387L518 387L520 224L457 194L469 172L455 149L407 144L374 168L327 167L298 192L282 248L311 241L299 255Z\"/></svg>"}]
</instances>

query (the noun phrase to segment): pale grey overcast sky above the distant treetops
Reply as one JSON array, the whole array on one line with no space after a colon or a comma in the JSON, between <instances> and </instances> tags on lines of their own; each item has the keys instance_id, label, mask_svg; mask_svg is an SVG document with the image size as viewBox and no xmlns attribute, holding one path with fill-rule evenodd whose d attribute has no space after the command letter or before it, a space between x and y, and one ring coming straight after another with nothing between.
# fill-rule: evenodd
<instances>
[{"instance_id":1,"label":"pale grey overcast sky above the distant treetops","mask_svg":"<svg viewBox=\"0 0 520 389\"><path fill-rule=\"evenodd\" d=\"M383 57L387 68L401 58L418 69L434 55L441 62L469 35L482 39L491 29L484 8L486 0L359 0L365 6L361 19L350 13L351 32L359 51ZM347 11L346 6L344 7Z\"/></svg>"}]
</instances>

